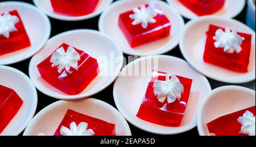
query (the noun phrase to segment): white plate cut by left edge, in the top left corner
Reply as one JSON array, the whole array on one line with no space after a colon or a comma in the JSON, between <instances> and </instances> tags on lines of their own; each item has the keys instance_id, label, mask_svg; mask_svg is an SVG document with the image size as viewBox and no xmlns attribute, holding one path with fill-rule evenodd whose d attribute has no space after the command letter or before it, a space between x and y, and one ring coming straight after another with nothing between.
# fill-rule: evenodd
<instances>
[{"instance_id":1,"label":"white plate cut by left edge, in the top left corner","mask_svg":"<svg viewBox=\"0 0 256 147\"><path fill-rule=\"evenodd\" d=\"M30 58L38 52L51 34L47 16L33 5L24 2L0 2L0 14L17 10L30 38L31 46L14 53L1 55L0 65L13 64ZM35 21L36 20L36 21Z\"/></svg>"}]
</instances>

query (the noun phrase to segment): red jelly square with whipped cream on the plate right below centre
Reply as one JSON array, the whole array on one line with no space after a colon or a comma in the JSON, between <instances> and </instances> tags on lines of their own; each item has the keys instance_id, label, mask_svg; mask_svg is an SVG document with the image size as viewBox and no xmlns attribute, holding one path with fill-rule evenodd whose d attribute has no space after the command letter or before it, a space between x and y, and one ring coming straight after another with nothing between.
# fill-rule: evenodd
<instances>
[{"instance_id":1,"label":"red jelly square with whipped cream on the plate right below centre","mask_svg":"<svg viewBox=\"0 0 256 147\"><path fill-rule=\"evenodd\" d=\"M192 80L154 71L137 117L166 127L179 127Z\"/></svg>"}]
</instances>

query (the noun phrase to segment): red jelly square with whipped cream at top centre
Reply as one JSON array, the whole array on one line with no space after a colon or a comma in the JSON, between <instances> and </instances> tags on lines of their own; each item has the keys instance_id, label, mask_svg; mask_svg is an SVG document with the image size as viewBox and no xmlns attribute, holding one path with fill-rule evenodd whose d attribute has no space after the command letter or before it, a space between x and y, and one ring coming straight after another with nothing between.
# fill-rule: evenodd
<instances>
[{"instance_id":1,"label":"red jelly square with whipped cream at top centre","mask_svg":"<svg viewBox=\"0 0 256 147\"><path fill-rule=\"evenodd\" d=\"M165 38L171 30L170 20L155 3L119 15L118 25L131 47Z\"/></svg>"}]
</instances>

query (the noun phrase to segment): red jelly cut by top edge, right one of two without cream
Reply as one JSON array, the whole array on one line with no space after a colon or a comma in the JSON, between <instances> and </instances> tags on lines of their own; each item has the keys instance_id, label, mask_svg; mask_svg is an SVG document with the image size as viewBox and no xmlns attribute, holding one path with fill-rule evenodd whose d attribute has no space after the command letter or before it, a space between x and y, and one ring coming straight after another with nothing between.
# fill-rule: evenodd
<instances>
[{"instance_id":1,"label":"red jelly cut by top edge, right one of two without cream","mask_svg":"<svg viewBox=\"0 0 256 147\"><path fill-rule=\"evenodd\" d=\"M224 7L225 0L179 0L198 16L211 15Z\"/></svg>"}]
</instances>

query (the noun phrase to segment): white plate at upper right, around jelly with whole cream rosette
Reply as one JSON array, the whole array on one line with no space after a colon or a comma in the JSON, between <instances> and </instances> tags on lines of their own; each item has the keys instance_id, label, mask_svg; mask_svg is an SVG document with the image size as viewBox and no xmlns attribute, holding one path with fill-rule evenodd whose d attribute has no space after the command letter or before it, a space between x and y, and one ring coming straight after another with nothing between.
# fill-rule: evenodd
<instances>
[{"instance_id":1,"label":"white plate at upper right, around jelly with whole cream rosette","mask_svg":"<svg viewBox=\"0 0 256 147\"><path fill-rule=\"evenodd\" d=\"M220 27L229 27L236 29L238 32L253 35L249 72L241 74L204 62L203 56L205 40L207 38L205 32L208 31L210 24ZM204 16L191 20L185 25L180 40L180 50L189 64L211 79L225 83L246 83L255 80L255 32L240 21L218 16Z\"/></svg>"}]
</instances>

